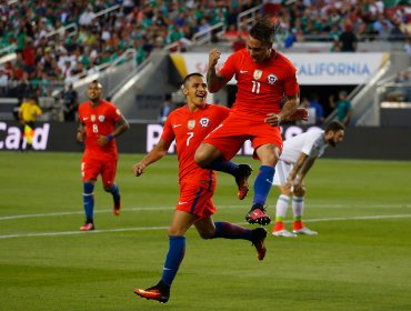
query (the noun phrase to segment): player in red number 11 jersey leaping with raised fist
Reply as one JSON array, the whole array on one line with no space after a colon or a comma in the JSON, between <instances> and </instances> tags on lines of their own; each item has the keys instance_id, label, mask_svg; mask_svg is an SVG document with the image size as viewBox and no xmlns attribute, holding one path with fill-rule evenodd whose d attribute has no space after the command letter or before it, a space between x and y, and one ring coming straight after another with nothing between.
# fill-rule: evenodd
<instances>
[{"instance_id":1,"label":"player in red number 11 jersey leaping with raised fist","mask_svg":"<svg viewBox=\"0 0 411 311\"><path fill-rule=\"evenodd\" d=\"M264 213L264 203L282 149L279 124L281 120L307 118L307 111L298 110L297 70L290 60L272 49L277 27L271 16L258 20L250 30L247 48L232 53L219 72L215 66L221 52L217 49L210 52L207 72L210 92L219 91L233 76L238 92L230 116L204 139L196 153L196 162L201 168L231 173L227 161L245 140L251 140L254 158L260 160L261 167L254 181L253 204L245 220L263 225L271 221Z\"/></svg>"}]
</instances>

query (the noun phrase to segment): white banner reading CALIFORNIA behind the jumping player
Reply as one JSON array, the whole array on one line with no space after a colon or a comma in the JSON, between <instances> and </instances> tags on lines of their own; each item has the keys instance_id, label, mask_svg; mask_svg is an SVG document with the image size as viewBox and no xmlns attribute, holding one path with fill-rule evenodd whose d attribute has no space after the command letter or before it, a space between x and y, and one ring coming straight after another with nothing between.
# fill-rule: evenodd
<instances>
[{"instance_id":1,"label":"white banner reading CALIFORNIA behind the jumping player","mask_svg":"<svg viewBox=\"0 0 411 311\"><path fill-rule=\"evenodd\" d=\"M207 73L208 53L181 54L188 73ZM301 86L363 84L381 67L384 53L285 53L293 62ZM218 68L229 57L221 54ZM229 83L235 83L232 79Z\"/></svg>"}]
</instances>

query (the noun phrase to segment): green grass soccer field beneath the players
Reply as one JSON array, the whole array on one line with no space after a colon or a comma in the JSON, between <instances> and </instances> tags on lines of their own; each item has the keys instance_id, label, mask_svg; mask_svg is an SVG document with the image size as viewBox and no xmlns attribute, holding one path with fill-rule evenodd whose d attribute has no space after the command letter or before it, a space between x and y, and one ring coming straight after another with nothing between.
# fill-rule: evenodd
<instances>
[{"instance_id":1,"label":"green grass soccer field beneath the players","mask_svg":"<svg viewBox=\"0 0 411 311\"><path fill-rule=\"evenodd\" d=\"M141 157L120 158L121 215L99 180L98 230L79 232L81 154L0 152L0 310L411 310L411 162L320 159L305 181L305 223L319 235L270 234L262 262L247 241L204 241L190 230L170 301L160 304L133 289L161 275L177 158L134 178ZM235 160L252 164L253 181L258 162ZM219 174L214 220L248 225L252 191L244 201L235 192Z\"/></svg>"}]
</instances>

